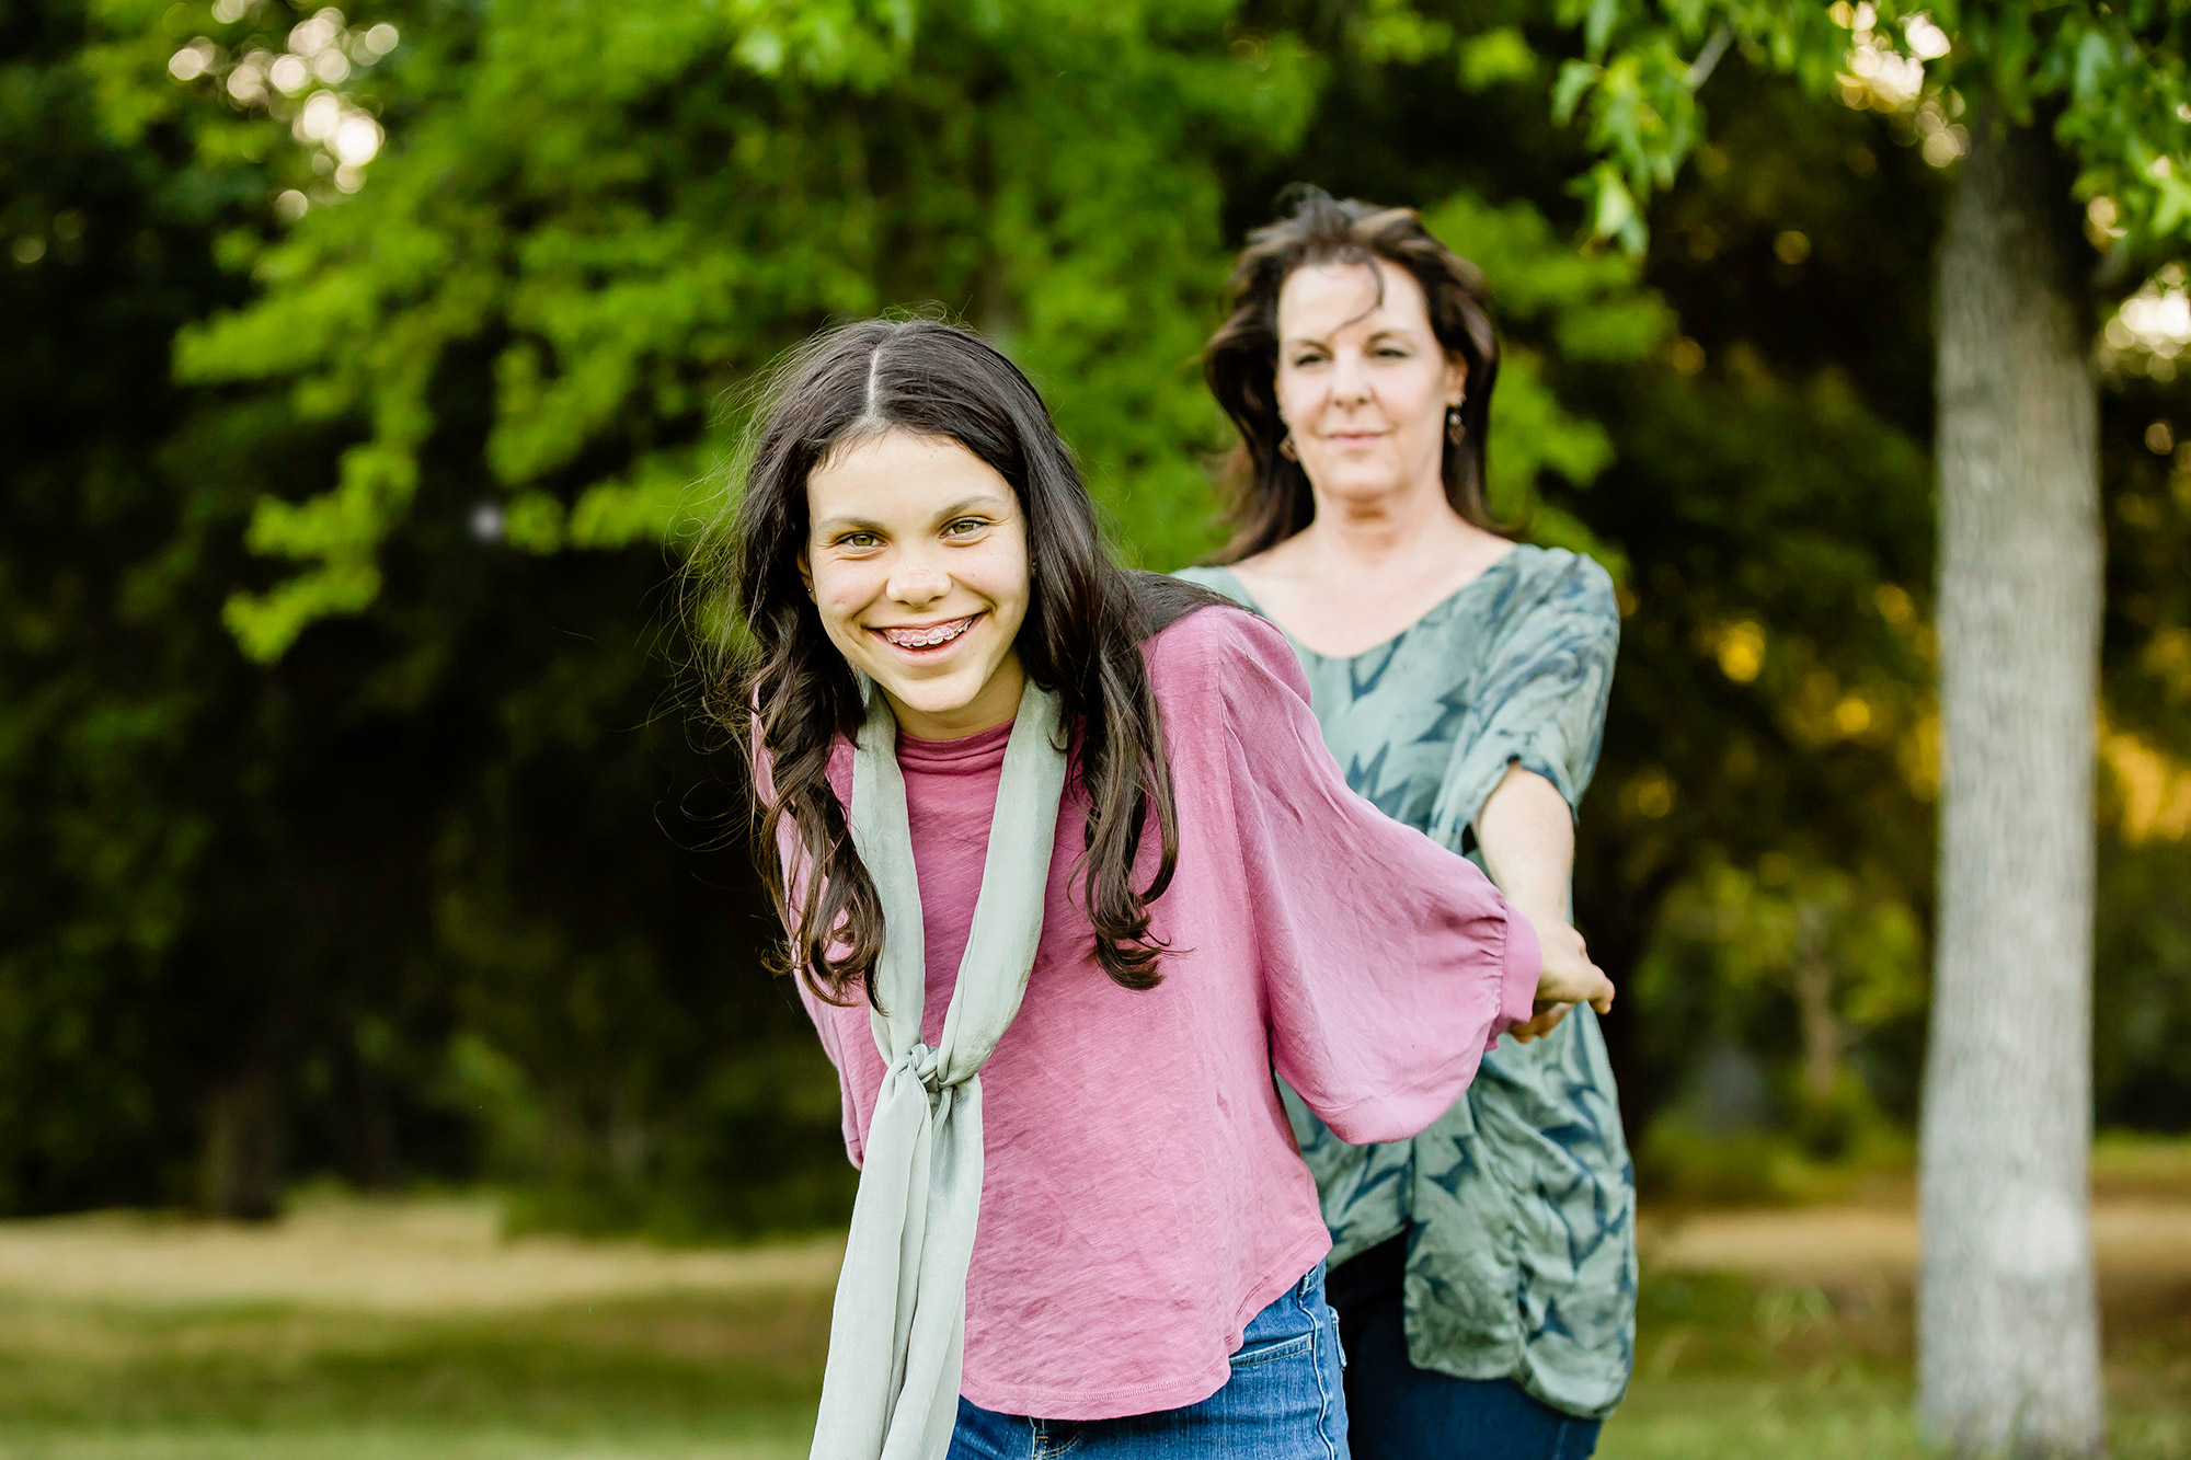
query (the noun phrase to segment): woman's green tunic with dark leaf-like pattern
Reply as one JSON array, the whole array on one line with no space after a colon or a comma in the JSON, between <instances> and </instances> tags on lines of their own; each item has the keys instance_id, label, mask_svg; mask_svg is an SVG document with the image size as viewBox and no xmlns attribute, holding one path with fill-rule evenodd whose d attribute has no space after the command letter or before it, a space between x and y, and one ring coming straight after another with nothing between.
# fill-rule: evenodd
<instances>
[{"instance_id":1,"label":"woman's green tunic with dark leaf-like pattern","mask_svg":"<svg viewBox=\"0 0 2191 1460\"><path fill-rule=\"evenodd\" d=\"M1225 568L1179 577L1255 607ZM1521 546L1376 649L1293 649L1347 783L1481 864L1475 818L1507 763L1582 800L1617 645L1604 568ZM1501 1039L1461 1103L1413 1140L1347 1147L1282 1094L1332 1265L1411 1234L1418 1368L1514 1379L1580 1416L1619 1403L1634 1359L1634 1175L1597 1015L1578 1008L1536 1043Z\"/></svg>"}]
</instances>

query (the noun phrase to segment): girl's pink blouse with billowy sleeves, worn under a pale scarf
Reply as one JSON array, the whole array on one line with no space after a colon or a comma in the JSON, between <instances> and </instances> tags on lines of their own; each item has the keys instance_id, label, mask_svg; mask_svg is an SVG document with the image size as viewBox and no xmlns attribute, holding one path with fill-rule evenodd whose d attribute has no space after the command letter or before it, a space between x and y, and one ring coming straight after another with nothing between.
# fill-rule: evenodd
<instances>
[{"instance_id":1,"label":"girl's pink blouse with billowy sleeves, worn under a pale scarf","mask_svg":"<svg viewBox=\"0 0 2191 1460\"><path fill-rule=\"evenodd\" d=\"M1096 962L1087 800L1069 789L1028 997L982 1070L962 1392L1003 1414L1115 1418L1214 1394L1247 1320L1330 1250L1271 1070L1343 1140L1402 1140L1536 993L1536 936L1483 872L1347 789L1277 629L1209 607L1146 653L1179 798L1179 875L1152 910L1174 949L1163 984L1133 993ZM931 1043L1008 737L898 737ZM850 802L848 743L830 780ZM883 1085L868 1006L800 989L859 1164Z\"/></svg>"}]
</instances>

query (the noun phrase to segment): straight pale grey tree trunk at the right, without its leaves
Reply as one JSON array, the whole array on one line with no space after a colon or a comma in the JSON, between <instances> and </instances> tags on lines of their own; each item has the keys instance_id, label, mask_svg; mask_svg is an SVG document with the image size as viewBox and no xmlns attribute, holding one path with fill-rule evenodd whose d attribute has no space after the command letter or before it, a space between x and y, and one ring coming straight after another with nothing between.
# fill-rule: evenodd
<instances>
[{"instance_id":1,"label":"straight pale grey tree trunk at the right, without its leaves","mask_svg":"<svg viewBox=\"0 0 2191 1460\"><path fill-rule=\"evenodd\" d=\"M1939 947L1919 1407L1959 1456L2097 1456L2097 390L2042 134L1972 118L1939 256Z\"/></svg>"}]
</instances>

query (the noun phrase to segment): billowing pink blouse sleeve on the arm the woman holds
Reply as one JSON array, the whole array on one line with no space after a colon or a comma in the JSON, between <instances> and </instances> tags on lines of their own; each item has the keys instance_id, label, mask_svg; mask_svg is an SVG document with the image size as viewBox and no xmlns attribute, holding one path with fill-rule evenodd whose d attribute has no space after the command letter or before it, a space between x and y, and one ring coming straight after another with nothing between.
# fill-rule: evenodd
<instances>
[{"instance_id":1,"label":"billowing pink blouse sleeve on the arm the woman holds","mask_svg":"<svg viewBox=\"0 0 2191 1460\"><path fill-rule=\"evenodd\" d=\"M1347 787L1277 629L1234 609L1174 629L1225 719L1271 1065L1341 1140L1404 1140L1529 1017L1536 934L1475 864Z\"/></svg>"}]
</instances>

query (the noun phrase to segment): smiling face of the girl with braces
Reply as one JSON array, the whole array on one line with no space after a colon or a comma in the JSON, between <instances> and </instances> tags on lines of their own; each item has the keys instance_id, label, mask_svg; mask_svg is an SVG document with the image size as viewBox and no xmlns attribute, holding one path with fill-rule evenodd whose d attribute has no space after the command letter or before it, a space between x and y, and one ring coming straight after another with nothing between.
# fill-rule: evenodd
<instances>
[{"instance_id":1,"label":"smiling face of the girl with braces","mask_svg":"<svg viewBox=\"0 0 2191 1460\"><path fill-rule=\"evenodd\" d=\"M957 441L885 432L806 478L800 577L822 627L898 726L949 741L1019 710L1028 520Z\"/></svg>"}]
</instances>

